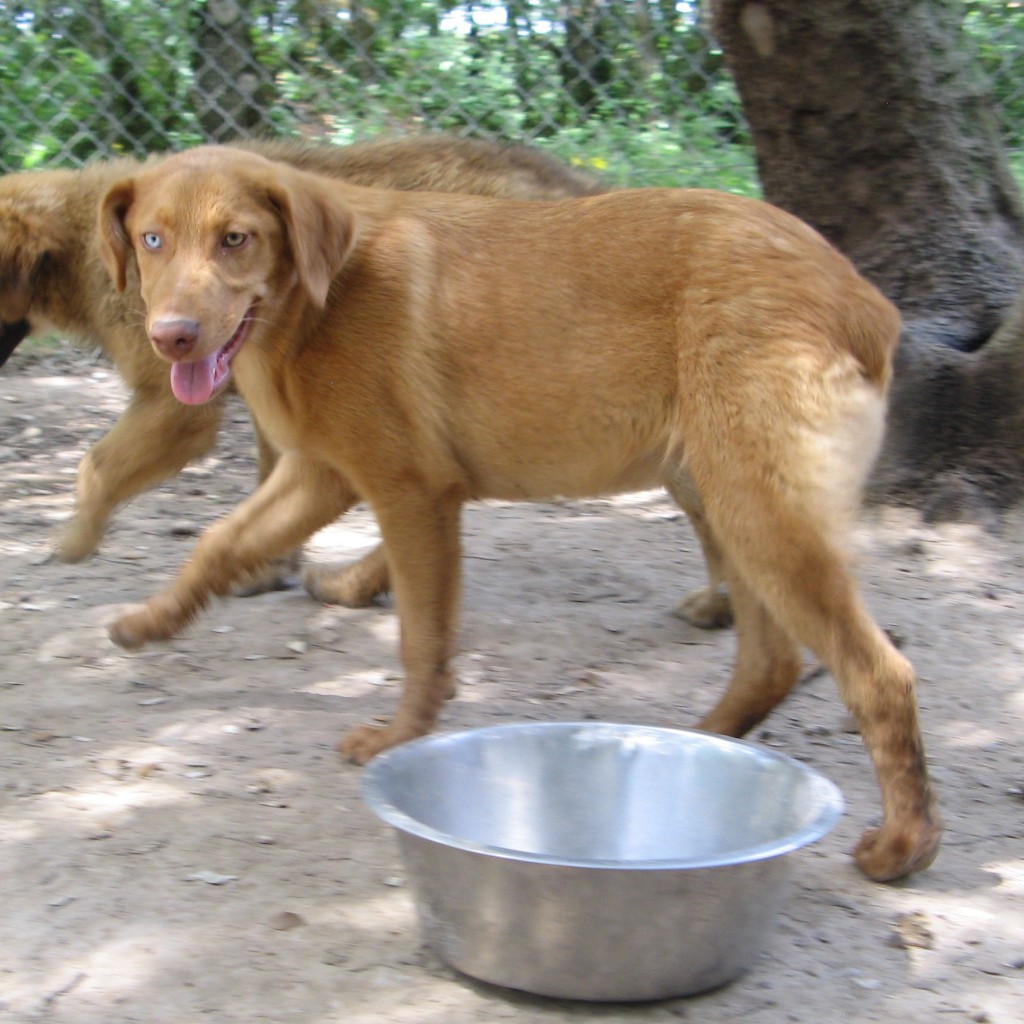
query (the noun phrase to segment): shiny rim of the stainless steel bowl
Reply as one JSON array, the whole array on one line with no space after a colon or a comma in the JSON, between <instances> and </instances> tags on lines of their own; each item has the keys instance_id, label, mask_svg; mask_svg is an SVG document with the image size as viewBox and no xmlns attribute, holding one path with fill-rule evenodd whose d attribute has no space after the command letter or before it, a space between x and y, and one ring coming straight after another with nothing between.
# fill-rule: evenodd
<instances>
[{"instance_id":1,"label":"shiny rim of the stainless steel bowl","mask_svg":"<svg viewBox=\"0 0 1024 1024\"><path fill-rule=\"evenodd\" d=\"M730 748L740 748L757 753L760 757L769 761L774 761L788 766L798 774L803 775L812 785L815 795L820 802L817 815L802 828L787 833L777 839L766 843L752 844L727 853L718 854L713 857L672 857L648 860L610 860L602 858L588 857L559 857L552 854L536 853L528 850L516 850L501 846L490 846L485 843L478 843L472 840L463 839L451 833L442 831L428 825L418 818L413 817L406 811L396 807L384 795L385 775L393 770L394 766L402 760L415 757L418 751L426 746L443 746L459 740L464 740L468 735L485 738L488 734L509 734L511 732L540 732L540 731L564 731L575 733L586 730L594 733L607 733L616 736L625 736L628 733L642 734L645 736L674 737L678 735L697 738L701 742L710 745L721 745ZM391 750L378 754L362 769L360 779L360 795L369 808L384 822L404 833L422 840L427 840L451 849L463 850L469 853L481 854L501 860L514 860L522 863L547 864L557 867L590 867L606 870L678 870L686 868L688 870L710 867L727 867L736 864L756 863L768 860L773 857L780 857L792 853L827 835L842 817L845 804L843 794L839 786L827 778L816 768L798 761L786 754L769 750L760 743L746 739L736 739L731 736L722 736L713 732L703 732L699 729L674 728L670 726L638 725L628 722L590 722L590 721L565 721L565 722L508 722L501 725L481 726L479 728L458 729L443 732L435 732L418 739L410 740Z\"/></svg>"}]
</instances>

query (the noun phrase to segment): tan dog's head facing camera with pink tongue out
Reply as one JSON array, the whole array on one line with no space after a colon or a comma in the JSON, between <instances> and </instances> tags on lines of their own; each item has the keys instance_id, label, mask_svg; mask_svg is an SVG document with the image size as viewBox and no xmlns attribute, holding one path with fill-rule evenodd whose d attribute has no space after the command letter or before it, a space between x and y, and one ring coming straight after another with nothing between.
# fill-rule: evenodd
<instances>
[{"instance_id":1,"label":"tan dog's head facing camera with pink tongue out","mask_svg":"<svg viewBox=\"0 0 1024 1024\"><path fill-rule=\"evenodd\" d=\"M100 253L123 291L138 269L146 329L187 403L297 303L323 307L355 241L331 182L252 153L202 146L145 165L99 207Z\"/></svg>"}]
</instances>

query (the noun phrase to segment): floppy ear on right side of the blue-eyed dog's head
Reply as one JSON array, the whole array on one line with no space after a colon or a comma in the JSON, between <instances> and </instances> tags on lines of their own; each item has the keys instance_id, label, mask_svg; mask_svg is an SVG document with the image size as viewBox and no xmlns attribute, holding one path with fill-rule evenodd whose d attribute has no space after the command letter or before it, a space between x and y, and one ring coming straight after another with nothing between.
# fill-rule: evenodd
<instances>
[{"instance_id":1,"label":"floppy ear on right side of the blue-eyed dog's head","mask_svg":"<svg viewBox=\"0 0 1024 1024\"><path fill-rule=\"evenodd\" d=\"M317 306L355 246L355 212L330 186L312 174L283 168L269 188L288 236L302 287Z\"/></svg>"}]
</instances>

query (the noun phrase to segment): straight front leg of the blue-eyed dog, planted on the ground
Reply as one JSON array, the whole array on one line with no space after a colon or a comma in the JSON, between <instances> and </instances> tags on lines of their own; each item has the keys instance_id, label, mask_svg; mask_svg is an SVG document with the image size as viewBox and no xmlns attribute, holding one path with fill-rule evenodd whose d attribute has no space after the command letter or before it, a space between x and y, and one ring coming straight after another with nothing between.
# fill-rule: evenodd
<instances>
[{"instance_id":1,"label":"straight front leg of the blue-eyed dog, planted on the ground","mask_svg":"<svg viewBox=\"0 0 1024 1024\"><path fill-rule=\"evenodd\" d=\"M341 741L341 752L364 764L389 746L429 732L443 702L454 696L450 660L455 652L461 581L461 499L410 498L374 505L391 567L401 628L404 684L394 718L362 725Z\"/></svg>"}]
</instances>

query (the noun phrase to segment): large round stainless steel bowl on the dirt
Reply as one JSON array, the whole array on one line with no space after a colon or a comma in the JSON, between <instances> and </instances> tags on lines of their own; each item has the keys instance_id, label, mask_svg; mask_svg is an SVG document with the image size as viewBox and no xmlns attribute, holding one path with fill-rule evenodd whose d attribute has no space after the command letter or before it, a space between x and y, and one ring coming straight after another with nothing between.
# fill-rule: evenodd
<instances>
[{"instance_id":1,"label":"large round stainless steel bowl on the dirt","mask_svg":"<svg viewBox=\"0 0 1024 1024\"><path fill-rule=\"evenodd\" d=\"M714 988L761 951L786 854L839 790L771 751L636 725L502 725L374 759L427 943L467 975L611 1001Z\"/></svg>"}]
</instances>

